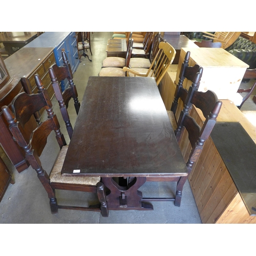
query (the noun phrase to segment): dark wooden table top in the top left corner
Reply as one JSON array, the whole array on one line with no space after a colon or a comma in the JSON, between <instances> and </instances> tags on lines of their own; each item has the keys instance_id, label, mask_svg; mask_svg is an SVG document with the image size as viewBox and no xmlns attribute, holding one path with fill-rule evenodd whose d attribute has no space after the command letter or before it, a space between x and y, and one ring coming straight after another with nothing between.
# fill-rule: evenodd
<instances>
[{"instance_id":1,"label":"dark wooden table top in the top left corner","mask_svg":"<svg viewBox=\"0 0 256 256\"><path fill-rule=\"evenodd\" d=\"M37 36L37 32L3 32L0 34L0 42L28 42Z\"/></svg>"}]
</instances>

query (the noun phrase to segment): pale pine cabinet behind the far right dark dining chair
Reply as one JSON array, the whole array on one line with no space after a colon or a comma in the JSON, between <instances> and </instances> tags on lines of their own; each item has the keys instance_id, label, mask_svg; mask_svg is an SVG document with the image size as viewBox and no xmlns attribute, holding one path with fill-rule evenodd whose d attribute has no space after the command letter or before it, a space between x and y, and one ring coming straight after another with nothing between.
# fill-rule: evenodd
<instances>
[{"instance_id":1,"label":"pale pine cabinet behind the far right dark dining chair","mask_svg":"<svg viewBox=\"0 0 256 256\"><path fill-rule=\"evenodd\" d=\"M249 66L222 48L182 48L177 69L176 84L186 52L190 51L189 66L195 64L203 67L199 91L214 91L219 99L236 101L238 88L244 73ZM183 86L188 89L191 82L184 80ZM241 96L240 96L241 97Z\"/></svg>"}]
</instances>

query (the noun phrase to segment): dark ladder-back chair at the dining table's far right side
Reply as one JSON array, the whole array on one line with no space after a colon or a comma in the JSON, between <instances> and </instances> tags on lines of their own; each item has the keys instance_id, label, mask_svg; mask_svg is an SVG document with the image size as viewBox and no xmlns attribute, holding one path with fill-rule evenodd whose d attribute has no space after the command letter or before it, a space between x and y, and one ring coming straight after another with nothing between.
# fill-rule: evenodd
<instances>
[{"instance_id":1,"label":"dark ladder-back chair at the dining table's far right side","mask_svg":"<svg viewBox=\"0 0 256 256\"><path fill-rule=\"evenodd\" d=\"M187 96L187 90L183 88L184 79L187 79L192 82L191 87L193 88L193 90L198 90L203 73L203 68L198 64L196 64L193 67L188 65L189 58L190 52L187 51L180 69L179 82L176 86L174 101L172 103L171 109L167 111L170 123L172 123L174 130L177 128L177 121L179 119L178 117L176 117L178 101L179 99L181 99L184 106L185 99Z\"/></svg>"}]
</instances>

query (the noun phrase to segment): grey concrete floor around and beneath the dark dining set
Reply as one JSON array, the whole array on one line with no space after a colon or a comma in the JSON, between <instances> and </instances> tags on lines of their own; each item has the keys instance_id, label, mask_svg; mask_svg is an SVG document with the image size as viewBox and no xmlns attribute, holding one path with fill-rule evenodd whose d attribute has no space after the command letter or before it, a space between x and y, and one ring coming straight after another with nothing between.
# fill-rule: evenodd
<instances>
[{"instance_id":1,"label":"grey concrete floor around and beneath the dark dining set","mask_svg":"<svg viewBox=\"0 0 256 256\"><path fill-rule=\"evenodd\" d=\"M92 62L90 62L88 58L82 57L81 63L74 73L74 82L77 87L79 101L82 100L89 76L97 76L101 69L102 60L106 57L106 42L112 37L112 34L112 32L94 32L91 34L93 55L91 56L90 51L88 55L92 59ZM65 135L67 143L69 143L66 126L61 118L55 97L52 101L53 110L61 125L61 131ZM242 110L256 110L256 104L254 104L251 99L248 99ZM72 104L69 106L69 115L74 127L76 113ZM51 134L51 136L54 135ZM54 141L53 137L52 141ZM50 140L42 153L40 158L42 166L48 173L54 163L57 151L57 143L53 143ZM52 215L47 193L39 182L36 172L29 167L19 174L3 152L1 156L8 165L12 177L15 180L15 184L9 185L0 203L0 223L201 223L188 182L185 183L183 189L180 207L175 207L173 202L153 202L153 211L110 211L108 218L103 218L100 212L66 209L59 209L57 214ZM175 193L175 189L176 186L172 183L147 182L140 190L144 197L151 197L153 195L165 197L174 196L173 193ZM168 192L166 193L166 191ZM56 190L56 198L58 204L69 204L69 202L72 202L77 203L77 205L81 205L81 203L89 205L97 202L96 195L77 191Z\"/></svg>"}]
</instances>

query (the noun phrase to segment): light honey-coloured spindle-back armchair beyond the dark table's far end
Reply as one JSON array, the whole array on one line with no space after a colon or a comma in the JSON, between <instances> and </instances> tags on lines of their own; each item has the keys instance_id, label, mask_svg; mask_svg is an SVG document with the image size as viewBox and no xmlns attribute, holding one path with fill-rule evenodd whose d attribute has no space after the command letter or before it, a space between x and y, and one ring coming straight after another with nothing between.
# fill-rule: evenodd
<instances>
[{"instance_id":1,"label":"light honey-coloured spindle-back armchair beyond the dark table's far end","mask_svg":"<svg viewBox=\"0 0 256 256\"><path fill-rule=\"evenodd\" d=\"M175 55L175 49L168 42L160 42L158 52L149 69L130 69L124 67L123 71L127 71L127 76L154 77L157 85L159 85L170 64L173 62Z\"/></svg>"}]
</instances>

